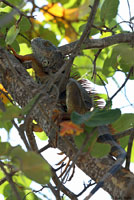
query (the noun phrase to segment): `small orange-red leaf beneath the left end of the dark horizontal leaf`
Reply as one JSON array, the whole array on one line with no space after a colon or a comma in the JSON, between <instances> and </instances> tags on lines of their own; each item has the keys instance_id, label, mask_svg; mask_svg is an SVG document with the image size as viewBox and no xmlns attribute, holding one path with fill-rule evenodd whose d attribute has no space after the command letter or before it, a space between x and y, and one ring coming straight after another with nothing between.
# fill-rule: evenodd
<instances>
[{"instance_id":1,"label":"small orange-red leaf beneath the left end of the dark horizontal leaf","mask_svg":"<svg viewBox=\"0 0 134 200\"><path fill-rule=\"evenodd\" d=\"M80 133L83 133L83 128L81 128L79 125L74 124L71 121L64 121L60 123L61 130L60 135L80 135Z\"/></svg>"}]
</instances>

